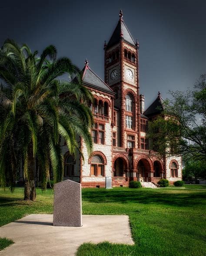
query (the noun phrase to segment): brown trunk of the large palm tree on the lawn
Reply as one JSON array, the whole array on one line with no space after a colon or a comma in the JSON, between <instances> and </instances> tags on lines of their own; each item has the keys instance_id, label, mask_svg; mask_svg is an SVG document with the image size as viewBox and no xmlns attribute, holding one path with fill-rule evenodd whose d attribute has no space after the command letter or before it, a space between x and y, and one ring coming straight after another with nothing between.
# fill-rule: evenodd
<instances>
[{"instance_id":1,"label":"brown trunk of the large palm tree on the lawn","mask_svg":"<svg viewBox=\"0 0 206 256\"><path fill-rule=\"evenodd\" d=\"M34 182L34 157L32 143L28 149L28 179L24 183L24 200L36 201L36 188Z\"/></svg>"}]
</instances>

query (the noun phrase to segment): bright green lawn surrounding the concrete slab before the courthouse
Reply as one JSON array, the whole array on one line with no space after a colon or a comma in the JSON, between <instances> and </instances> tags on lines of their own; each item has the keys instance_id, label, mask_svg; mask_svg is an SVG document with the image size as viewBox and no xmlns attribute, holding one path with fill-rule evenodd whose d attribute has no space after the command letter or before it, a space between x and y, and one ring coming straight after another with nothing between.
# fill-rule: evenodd
<instances>
[{"instance_id":1,"label":"bright green lawn surrounding the concrete slab before the courthouse","mask_svg":"<svg viewBox=\"0 0 206 256\"><path fill-rule=\"evenodd\" d=\"M52 213L53 191L0 191L0 225L30 213ZM83 189L83 214L129 215L134 246L83 244L77 255L206 255L206 190L187 188Z\"/></svg>"}]
</instances>

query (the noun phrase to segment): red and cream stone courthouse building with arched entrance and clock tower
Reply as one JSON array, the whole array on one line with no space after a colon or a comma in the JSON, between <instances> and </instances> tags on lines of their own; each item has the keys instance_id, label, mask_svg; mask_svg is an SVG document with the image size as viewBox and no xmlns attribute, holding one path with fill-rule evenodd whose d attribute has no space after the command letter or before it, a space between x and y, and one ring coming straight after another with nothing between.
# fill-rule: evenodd
<instances>
[{"instance_id":1,"label":"red and cream stone courthouse building with arched entrance and clock tower","mask_svg":"<svg viewBox=\"0 0 206 256\"><path fill-rule=\"evenodd\" d=\"M139 42L133 40L122 11L110 40L104 44L104 81L86 60L83 85L94 97L90 104L95 121L91 130L93 153L87 154L79 138L84 161L78 154L74 158L62 141L64 179L95 188L105 187L106 177L112 178L113 186L127 186L134 180L152 187L161 178L170 183L182 179L181 158L157 158L146 139L148 121L159 115L163 99L160 92L151 95L154 101L145 109L139 84Z\"/></svg>"}]
</instances>

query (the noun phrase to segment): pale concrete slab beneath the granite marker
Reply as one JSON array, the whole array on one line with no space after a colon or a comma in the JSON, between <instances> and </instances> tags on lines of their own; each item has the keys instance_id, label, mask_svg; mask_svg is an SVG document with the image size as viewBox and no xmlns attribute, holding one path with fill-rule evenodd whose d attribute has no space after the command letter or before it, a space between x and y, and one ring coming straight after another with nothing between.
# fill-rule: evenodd
<instances>
[{"instance_id":1,"label":"pale concrete slab beneath the granite marker","mask_svg":"<svg viewBox=\"0 0 206 256\"><path fill-rule=\"evenodd\" d=\"M75 255L83 242L133 245L126 215L83 215L82 227L53 226L53 215L31 214L0 228L0 237L15 243L0 251L7 256Z\"/></svg>"}]
</instances>

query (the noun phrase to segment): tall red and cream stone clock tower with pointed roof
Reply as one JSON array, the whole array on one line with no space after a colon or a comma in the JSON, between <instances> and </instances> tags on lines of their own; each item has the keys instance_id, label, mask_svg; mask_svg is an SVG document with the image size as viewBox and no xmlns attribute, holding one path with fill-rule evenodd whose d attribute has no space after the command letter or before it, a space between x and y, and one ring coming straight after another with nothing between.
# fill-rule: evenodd
<instances>
[{"instance_id":1,"label":"tall red and cream stone clock tower with pointed roof","mask_svg":"<svg viewBox=\"0 0 206 256\"><path fill-rule=\"evenodd\" d=\"M114 106L119 109L119 145L140 148L139 42L126 27L122 10L104 51L105 82L116 92Z\"/></svg>"}]
</instances>

